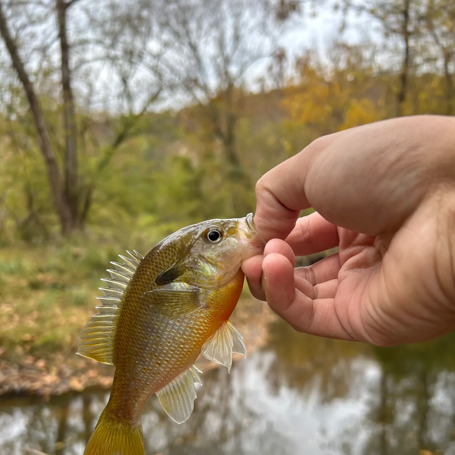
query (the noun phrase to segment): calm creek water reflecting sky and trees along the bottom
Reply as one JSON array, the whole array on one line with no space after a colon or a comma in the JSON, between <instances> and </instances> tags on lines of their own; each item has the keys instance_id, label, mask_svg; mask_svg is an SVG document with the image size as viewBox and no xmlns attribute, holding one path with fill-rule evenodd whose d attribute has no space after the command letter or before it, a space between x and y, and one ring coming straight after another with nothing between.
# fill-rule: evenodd
<instances>
[{"instance_id":1,"label":"calm creek water reflecting sky and trees along the bottom","mask_svg":"<svg viewBox=\"0 0 455 455\"><path fill-rule=\"evenodd\" d=\"M148 455L455 455L455 334L399 348L327 340L270 325L270 340L202 375L177 425L152 397ZM0 401L0 454L81 455L103 390Z\"/></svg>"}]
</instances>

